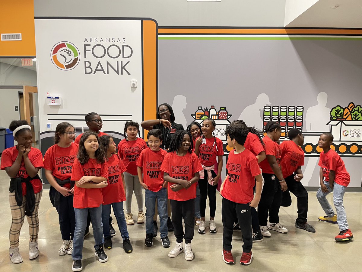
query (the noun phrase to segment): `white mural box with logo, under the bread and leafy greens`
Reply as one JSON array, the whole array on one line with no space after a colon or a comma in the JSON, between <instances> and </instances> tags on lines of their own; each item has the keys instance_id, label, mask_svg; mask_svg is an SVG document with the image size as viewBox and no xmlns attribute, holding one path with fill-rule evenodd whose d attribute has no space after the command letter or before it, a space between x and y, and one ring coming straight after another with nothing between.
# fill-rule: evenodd
<instances>
[{"instance_id":1,"label":"white mural box with logo, under the bread and leafy greens","mask_svg":"<svg viewBox=\"0 0 362 272\"><path fill-rule=\"evenodd\" d=\"M335 120L330 121L327 125L331 125L334 141L362 141L362 121Z\"/></svg>"}]
</instances>

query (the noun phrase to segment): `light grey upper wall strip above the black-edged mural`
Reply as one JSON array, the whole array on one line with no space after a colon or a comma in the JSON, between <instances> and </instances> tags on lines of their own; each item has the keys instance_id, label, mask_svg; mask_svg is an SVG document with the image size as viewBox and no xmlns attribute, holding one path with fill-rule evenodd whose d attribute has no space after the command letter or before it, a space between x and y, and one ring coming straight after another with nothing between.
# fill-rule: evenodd
<instances>
[{"instance_id":1,"label":"light grey upper wall strip above the black-edged mural","mask_svg":"<svg viewBox=\"0 0 362 272\"><path fill-rule=\"evenodd\" d=\"M59 4L34 0L34 15L151 17L159 26L283 26L285 14L285 0L63 0Z\"/></svg>"}]
</instances>

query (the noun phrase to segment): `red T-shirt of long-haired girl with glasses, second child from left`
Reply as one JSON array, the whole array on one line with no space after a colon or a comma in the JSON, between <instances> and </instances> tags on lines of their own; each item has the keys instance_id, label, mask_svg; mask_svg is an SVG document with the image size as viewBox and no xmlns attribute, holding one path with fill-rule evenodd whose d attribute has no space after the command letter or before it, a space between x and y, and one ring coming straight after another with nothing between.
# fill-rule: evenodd
<instances>
[{"instance_id":1,"label":"red T-shirt of long-haired girl with glasses, second child from left","mask_svg":"<svg viewBox=\"0 0 362 272\"><path fill-rule=\"evenodd\" d=\"M52 171L52 175L59 180L67 180L72 176L72 167L74 159L77 157L78 144L72 143L70 147L59 147L52 145L44 155L44 169ZM64 187L70 189L70 184Z\"/></svg>"}]
</instances>

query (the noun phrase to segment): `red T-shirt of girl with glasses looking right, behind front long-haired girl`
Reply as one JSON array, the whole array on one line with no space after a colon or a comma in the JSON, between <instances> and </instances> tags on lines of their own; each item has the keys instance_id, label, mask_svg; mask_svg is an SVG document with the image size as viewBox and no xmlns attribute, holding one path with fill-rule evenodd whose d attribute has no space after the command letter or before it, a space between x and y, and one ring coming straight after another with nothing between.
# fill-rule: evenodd
<instances>
[{"instance_id":1,"label":"red T-shirt of girl with glasses looking right, behind front long-haired girl","mask_svg":"<svg viewBox=\"0 0 362 272\"><path fill-rule=\"evenodd\" d=\"M126 195L121 176L126 171L125 165L117 154L113 154L108 158L107 166L108 186L102 188L103 205L125 201Z\"/></svg>"}]
</instances>

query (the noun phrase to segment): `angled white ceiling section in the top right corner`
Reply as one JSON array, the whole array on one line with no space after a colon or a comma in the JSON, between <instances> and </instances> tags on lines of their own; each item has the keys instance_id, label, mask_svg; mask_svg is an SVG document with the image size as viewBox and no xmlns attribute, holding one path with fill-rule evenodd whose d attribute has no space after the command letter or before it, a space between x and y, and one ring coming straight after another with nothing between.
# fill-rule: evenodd
<instances>
[{"instance_id":1,"label":"angled white ceiling section in the top right corner","mask_svg":"<svg viewBox=\"0 0 362 272\"><path fill-rule=\"evenodd\" d=\"M362 0L319 0L285 27L362 28Z\"/></svg>"}]
</instances>

